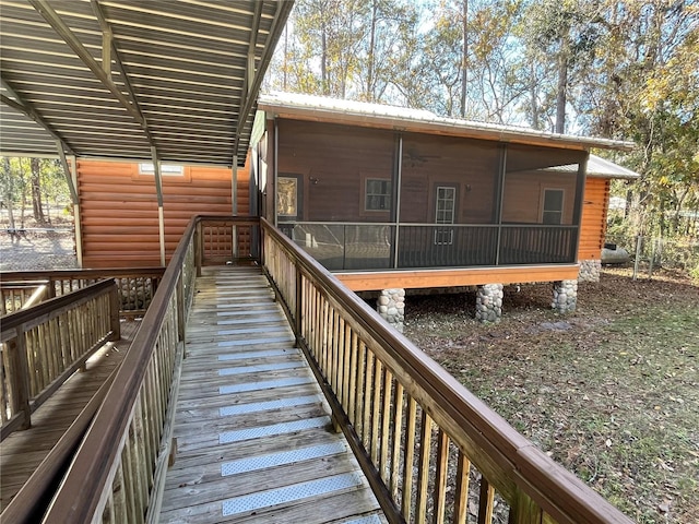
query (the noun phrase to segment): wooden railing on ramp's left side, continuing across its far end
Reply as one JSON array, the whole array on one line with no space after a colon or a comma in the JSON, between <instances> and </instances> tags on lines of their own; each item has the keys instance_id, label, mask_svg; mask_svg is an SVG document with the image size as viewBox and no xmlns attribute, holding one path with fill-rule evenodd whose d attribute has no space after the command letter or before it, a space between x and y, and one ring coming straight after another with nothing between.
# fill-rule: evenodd
<instances>
[{"instance_id":1,"label":"wooden railing on ramp's left side, continuing across its far end","mask_svg":"<svg viewBox=\"0 0 699 524\"><path fill-rule=\"evenodd\" d=\"M202 263L212 263L212 257L221 263L248 258L249 248L235 251L242 242L229 240L253 236L258 224L257 218L200 216L191 221L42 522L157 522L173 451L174 400L194 278ZM217 231L205 238L208 228ZM213 254L211 246L215 246ZM31 505L35 499L23 503Z\"/></svg>"}]
</instances>

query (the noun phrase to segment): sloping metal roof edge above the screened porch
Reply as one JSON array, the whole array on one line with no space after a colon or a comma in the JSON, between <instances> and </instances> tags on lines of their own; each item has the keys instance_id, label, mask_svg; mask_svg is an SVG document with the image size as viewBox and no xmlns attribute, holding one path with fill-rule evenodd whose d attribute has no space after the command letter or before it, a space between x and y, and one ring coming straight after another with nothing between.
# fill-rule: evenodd
<instances>
[{"instance_id":1,"label":"sloping metal roof edge above the screened porch","mask_svg":"<svg viewBox=\"0 0 699 524\"><path fill-rule=\"evenodd\" d=\"M449 134L500 142L587 150L601 147L631 150L635 144L620 140L558 134L519 126L500 126L447 118L424 109L366 102L342 100L315 95L272 93L261 95L259 108L282 118L320 120L353 126L379 127L422 133Z\"/></svg>"}]
</instances>

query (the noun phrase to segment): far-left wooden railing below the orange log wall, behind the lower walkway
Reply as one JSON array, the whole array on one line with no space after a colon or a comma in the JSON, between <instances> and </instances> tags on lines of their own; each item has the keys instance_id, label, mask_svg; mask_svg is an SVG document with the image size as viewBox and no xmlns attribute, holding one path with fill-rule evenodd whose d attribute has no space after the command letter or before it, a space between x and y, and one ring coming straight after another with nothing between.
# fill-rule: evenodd
<instances>
[{"instance_id":1,"label":"far-left wooden railing below the orange log wall, behind the lower walkway","mask_svg":"<svg viewBox=\"0 0 699 524\"><path fill-rule=\"evenodd\" d=\"M31 298L32 290L45 286L42 300L60 297L105 278L114 278L119 290L119 308L123 314L145 313L163 277L163 267L104 270L11 271L2 273L0 294L2 314L19 311Z\"/></svg>"}]
</instances>

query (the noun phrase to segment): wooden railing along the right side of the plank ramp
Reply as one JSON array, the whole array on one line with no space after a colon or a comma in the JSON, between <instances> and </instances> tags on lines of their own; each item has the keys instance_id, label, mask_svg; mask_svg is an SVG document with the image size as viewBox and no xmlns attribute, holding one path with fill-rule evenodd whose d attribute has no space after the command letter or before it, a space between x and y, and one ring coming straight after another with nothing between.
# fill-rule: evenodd
<instances>
[{"instance_id":1,"label":"wooden railing along the right side of the plank ramp","mask_svg":"<svg viewBox=\"0 0 699 524\"><path fill-rule=\"evenodd\" d=\"M331 405L343 409L335 417L348 417L348 427L343 428L343 431L345 434L353 433L350 434L351 444L353 440L364 442L365 449L362 451L369 456L375 469L365 473L370 478L371 475L381 477L386 481L382 491L393 495L391 500L382 501L384 510L388 510L387 515L392 511L400 511L402 517L408 519L406 512L410 513L412 504L415 503L418 510L425 508L428 497L425 491L427 485L424 484L427 477L420 477L415 480L417 487L413 488L418 491L417 500L411 502L408 493L406 503L405 490L412 490L410 483L406 488L407 473L399 479L394 478L393 472L387 474L384 471L390 462L386 449L400 442L400 437L383 434L386 431L377 427L377 419L383 424L388 418L396 417L398 413L403 416L404 391L411 413L415 414L416 408L422 409L423 427L425 424L436 422L438 434L443 436L445 442L451 440L461 450L460 466L463 464L463 455L465 464L471 461L486 479L481 483L479 511L484 521L488 521L487 515L491 514L491 489L495 489L508 502L510 511L514 512L510 515L513 519L511 522L540 522L546 519L561 523L632 522L574 475L537 450L407 338L389 327L363 300L346 290L330 272L297 248L279 229L266 221L261 221L261 229L265 241L264 267L275 283L281 299L286 303L299 344L305 347L312 364L324 378L325 390L332 391L332 397L329 398ZM354 385L358 386L358 382L363 380L367 391L357 389L352 392L352 382L355 381ZM400 398L394 395L399 388ZM365 407L372 406L369 413L357 405L358 398L365 393L374 395L365 404ZM362 416L355 416L359 413ZM402 420L400 418L393 422L401 425ZM367 425L371 427L367 428ZM419 425L418 420L416 426ZM413 430L416 431L415 426ZM418 440L426 439L420 440L420 449L429 442L429 434L430 431L417 436ZM415 437L406 431L404 438ZM442 451L438 451L438 454ZM399 454L405 452L406 450L396 451ZM407 455L407 460L412 461L413 455ZM429 455L419 456L420 472L425 475L427 473L422 467L429 464ZM446 463L446 454L443 460ZM367 461L360 463L366 464ZM410 474L412 475L412 467ZM455 479L457 492L461 493L460 483L467 485L467 476L469 467ZM401 481L403 501L398 498L396 486ZM439 497L443 500L443 496L445 486L441 486L441 492L433 500L435 511L439 510ZM463 511L463 507L455 508L454 511ZM424 519L424 515L415 516L418 521ZM400 521L400 517L396 520Z\"/></svg>"}]
</instances>

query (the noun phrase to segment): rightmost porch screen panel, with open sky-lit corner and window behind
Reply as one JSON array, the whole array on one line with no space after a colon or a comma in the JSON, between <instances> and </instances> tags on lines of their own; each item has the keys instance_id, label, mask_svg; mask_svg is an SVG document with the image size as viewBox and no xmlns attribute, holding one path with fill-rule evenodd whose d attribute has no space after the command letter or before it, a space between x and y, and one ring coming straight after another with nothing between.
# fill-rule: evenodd
<instances>
[{"instance_id":1,"label":"rightmost porch screen panel, with open sky-lit corner and window behind","mask_svg":"<svg viewBox=\"0 0 699 524\"><path fill-rule=\"evenodd\" d=\"M581 151L508 146L499 264L574 262Z\"/></svg>"}]
</instances>

